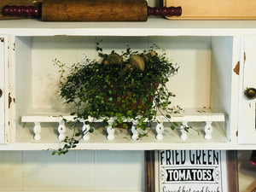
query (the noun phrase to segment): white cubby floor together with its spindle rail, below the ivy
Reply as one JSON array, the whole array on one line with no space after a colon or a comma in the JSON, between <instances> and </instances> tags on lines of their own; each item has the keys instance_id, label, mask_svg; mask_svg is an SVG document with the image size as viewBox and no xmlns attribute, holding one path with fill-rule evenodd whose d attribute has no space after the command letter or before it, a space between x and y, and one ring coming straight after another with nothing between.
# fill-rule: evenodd
<instances>
[{"instance_id":1,"label":"white cubby floor together with its spindle rail, below the ivy","mask_svg":"<svg viewBox=\"0 0 256 192\"><path fill-rule=\"evenodd\" d=\"M21 117L24 123L17 137L17 143L29 145L32 148L56 148L61 146L61 141L66 136L72 136L73 129L66 127L64 119L73 121L74 116L58 115L56 113L33 113ZM158 115L159 122L154 127L148 128L148 137L138 139L134 129L115 128L113 133L100 122L102 119L89 119L94 124L94 132L90 134L88 125L81 125L81 130L87 129L84 139L79 143L78 149L116 149L116 150L151 150L165 148L212 148L212 143L218 148L218 143L229 143L221 126L217 122L224 122L224 113L212 113L210 109L186 109L183 113L172 114L172 119ZM111 128L111 120L109 129ZM82 124L84 120L81 120ZM167 128L170 122L178 122L180 129L175 131ZM133 122L135 123L135 122ZM189 133L184 131L185 126L191 126ZM196 130L196 131L195 131ZM113 134L113 135L111 135ZM211 144L210 144L211 143ZM217 143L217 144L216 144ZM22 146L20 145L20 146ZM35 147L37 146L37 147ZM172 146L172 147L171 147Z\"/></svg>"}]
</instances>

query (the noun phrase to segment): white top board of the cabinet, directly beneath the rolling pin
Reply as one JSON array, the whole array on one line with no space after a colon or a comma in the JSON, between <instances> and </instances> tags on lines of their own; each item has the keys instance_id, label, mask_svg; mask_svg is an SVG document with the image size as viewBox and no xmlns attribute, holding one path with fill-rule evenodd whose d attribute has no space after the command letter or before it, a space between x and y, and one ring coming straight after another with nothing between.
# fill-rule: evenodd
<instances>
[{"instance_id":1,"label":"white top board of the cabinet, directly beneath the rolling pin","mask_svg":"<svg viewBox=\"0 0 256 192\"><path fill-rule=\"evenodd\" d=\"M35 19L1 20L0 34L26 35L236 35L256 32L256 20L166 20L146 22L49 22Z\"/></svg>"}]
</instances>

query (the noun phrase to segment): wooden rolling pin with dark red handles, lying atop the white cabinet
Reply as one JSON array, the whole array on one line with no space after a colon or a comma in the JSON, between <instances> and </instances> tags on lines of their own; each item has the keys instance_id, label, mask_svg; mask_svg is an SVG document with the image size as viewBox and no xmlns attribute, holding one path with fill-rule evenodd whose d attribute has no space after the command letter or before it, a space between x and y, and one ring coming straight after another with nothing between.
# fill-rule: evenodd
<instances>
[{"instance_id":1,"label":"wooden rolling pin with dark red handles, lying atop the white cabinet","mask_svg":"<svg viewBox=\"0 0 256 192\"><path fill-rule=\"evenodd\" d=\"M42 17L46 21L146 21L148 15L181 14L181 7L151 8L142 0L44 0L39 7L3 7L3 15Z\"/></svg>"}]
</instances>

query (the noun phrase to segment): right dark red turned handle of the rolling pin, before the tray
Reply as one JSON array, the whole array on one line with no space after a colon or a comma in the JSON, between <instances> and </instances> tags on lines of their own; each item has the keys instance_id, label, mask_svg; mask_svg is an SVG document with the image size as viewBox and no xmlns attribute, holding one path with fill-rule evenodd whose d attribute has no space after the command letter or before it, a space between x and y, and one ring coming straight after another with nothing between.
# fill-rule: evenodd
<instances>
[{"instance_id":1,"label":"right dark red turned handle of the rolling pin, before the tray","mask_svg":"<svg viewBox=\"0 0 256 192\"><path fill-rule=\"evenodd\" d=\"M182 15L181 7L148 7L148 15L161 16L180 16Z\"/></svg>"}]
</instances>

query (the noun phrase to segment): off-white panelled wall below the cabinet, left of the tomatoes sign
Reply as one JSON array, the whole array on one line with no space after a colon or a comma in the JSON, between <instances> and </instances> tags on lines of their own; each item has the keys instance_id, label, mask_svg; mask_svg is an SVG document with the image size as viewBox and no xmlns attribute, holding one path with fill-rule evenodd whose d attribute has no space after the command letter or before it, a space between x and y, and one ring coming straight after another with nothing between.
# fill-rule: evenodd
<instances>
[{"instance_id":1,"label":"off-white panelled wall below the cabinet, left of the tomatoes sign","mask_svg":"<svg viewBox=\"0 0 256 192\"><path fill-rule=\"evenodd\" d=\"M142 192L143 151L0 152L0 191Z\"/></svg>"}]
</instances>

